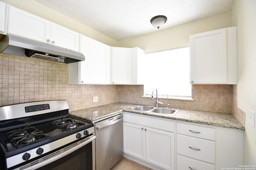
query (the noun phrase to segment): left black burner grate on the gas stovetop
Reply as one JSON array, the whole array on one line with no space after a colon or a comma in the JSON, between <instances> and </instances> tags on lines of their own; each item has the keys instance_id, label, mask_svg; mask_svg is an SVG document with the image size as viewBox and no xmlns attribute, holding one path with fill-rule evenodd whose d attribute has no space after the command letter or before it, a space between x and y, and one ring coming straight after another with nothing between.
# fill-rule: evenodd
<instances>
[{"instance_id":1,"label":"left black burner grate on the gas stovetop","mask_svg":"<svg viewBox=\"0 0 256 170\"><path fill-rule=\"evenodd\" d=\"M24 128L12 129L7 132L6 135L8 139L10 139L12 145L17 148L47 138L46 134L30 125Z\"/></svg>"}]
</instances>

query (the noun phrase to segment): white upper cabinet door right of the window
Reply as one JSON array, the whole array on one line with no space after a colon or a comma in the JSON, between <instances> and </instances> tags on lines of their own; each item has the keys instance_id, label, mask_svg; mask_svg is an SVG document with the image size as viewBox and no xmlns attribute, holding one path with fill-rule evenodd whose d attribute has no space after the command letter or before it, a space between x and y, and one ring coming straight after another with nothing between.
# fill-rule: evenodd
<instances>
[{"instance_id":1,"label":"white upper cabinet door right of the window","mask_svg":"<svg viewBox=\"0 0 256 170\"><path fill-rule=\"evenodd\" d=\"M226 29L190 35L190 83L227 84Z\"/></svg>"}]
</instances>

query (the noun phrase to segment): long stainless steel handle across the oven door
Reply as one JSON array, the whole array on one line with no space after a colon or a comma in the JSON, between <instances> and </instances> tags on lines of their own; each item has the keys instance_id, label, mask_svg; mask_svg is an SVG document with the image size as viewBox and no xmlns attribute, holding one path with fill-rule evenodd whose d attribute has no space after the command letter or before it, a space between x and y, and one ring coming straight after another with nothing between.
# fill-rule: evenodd
<instances>
[{"instance_id":1,"label":"long stainless steel handle across the oven door","mask_svg":"<svg viewBox=\"0 0 256 170\"><path fill-rule=\"evenodd\" d=\"M81 148L81 147L87 145L88 143L90 143L90 142L92 142L93 140L95 140L96 137L95 137L95 135L92 135L92 136L90 136L90 137L88 137L88 138L86 138L86 139L87 139L86 141L84 141L83 143L80 143L80 145L78 145L78 146L76 146L76 147L73 147L72 149L69 149L69 150L67 150L67 151L65 151L65 152L63 152L63 153L61 153L61 154L58 154L58 155L56 155L56 156L53 156L52 158L49 158L49 159L47 159L47 160L45 160L45 161L43 161L43 162L40 162L40 163L38 163L38 164L34 164L33 166L30 166L30 167L28 167L28 168L22 168L22 167L21 167L21 168L19 168L19 170L35 170L35 169L37 169L37 168L40 168L40 167L45 166L45 165L47 165L47 164L50 164L51 162L54 162L54 161L56 161L56 160L58 160L58 159L60 159L60 158L62 158L62 157L64 157L64 156L66 156L66 155L68 155L68 154L70 154L70 153L72 153L72 152L78 150L79 148Z\"/></svg>"}]
</instances>

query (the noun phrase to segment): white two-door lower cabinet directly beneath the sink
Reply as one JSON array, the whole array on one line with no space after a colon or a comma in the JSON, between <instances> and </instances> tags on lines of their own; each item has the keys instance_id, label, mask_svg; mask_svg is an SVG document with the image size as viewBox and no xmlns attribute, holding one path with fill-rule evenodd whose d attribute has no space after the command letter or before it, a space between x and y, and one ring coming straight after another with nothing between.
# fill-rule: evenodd
<instances>
[{"instance_id":1,"label":"white two-door lower cabinet directly beneath the sink","mask_svg":"<svg viewBox=\"0 0 256 170\"><path fill-rule=\"evenodd\" d=\"M126 113L123 121L125 154L158 169L174 170L174 122Z\"/></svg>"}]
</instances>

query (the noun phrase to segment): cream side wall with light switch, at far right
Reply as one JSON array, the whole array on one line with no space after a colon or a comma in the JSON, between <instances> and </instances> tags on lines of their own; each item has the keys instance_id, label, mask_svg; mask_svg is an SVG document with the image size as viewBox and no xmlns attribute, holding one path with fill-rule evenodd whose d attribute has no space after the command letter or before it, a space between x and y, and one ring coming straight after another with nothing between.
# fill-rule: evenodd
<instances>
[{"instance_id":1,"label":"cream side wall with light switch, at far right","mask_svg":"<svg viewBox=\"0 0 256 170\"><path fill-rule=\"evenodd\" d=\"M246 113L244 165L256 165L256 127L249 123L249 111L256 112L256 1L236 0L232 24L237 25L237 106Z\"/></svg>"}]
</instances>

